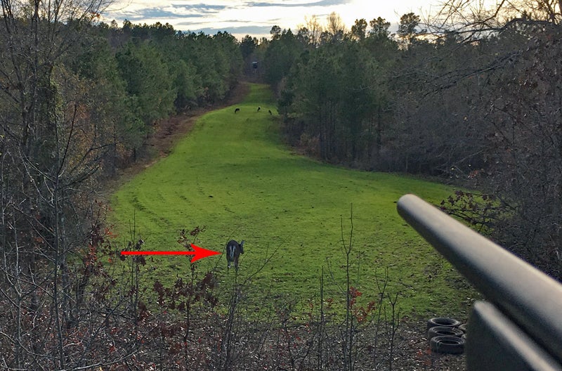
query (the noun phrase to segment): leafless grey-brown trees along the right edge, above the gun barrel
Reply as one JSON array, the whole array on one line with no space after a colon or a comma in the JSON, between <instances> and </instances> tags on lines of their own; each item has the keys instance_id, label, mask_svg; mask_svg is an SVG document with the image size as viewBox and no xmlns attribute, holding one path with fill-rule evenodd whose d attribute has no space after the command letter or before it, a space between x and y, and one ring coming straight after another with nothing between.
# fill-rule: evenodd
<instances>
[{"instance_id":1,"label":"leafless grey-brown trees along the right edge, above the gun barrel","mask_svg":"<svg viewBox=\"0 0 562 371\"><path fill-rule=\"evenodd\" d=\"M562 277L560 110L562 48L561 1L446 1L432 30L457 39L453 50L470 45L478 53L471 67L448 73L451 89L478 82L466 94L468 122L479 122L481 162L470 177L495 197L502 212L488 218L492 236L502 245L554 277ZM467 58L466 58L467 59ZM445 74L436 80L445 81ZM446 86L445 86L446 85ZM487 196L488 197L488 196ZM452 199L452 207L459 203ZM456 203L456 206L455 206ZM478 202L477 202L478 203ZM476 209L488 203L480 202ZM481 215L483 217L485 215Z\"/></svg>"}]
</instances>

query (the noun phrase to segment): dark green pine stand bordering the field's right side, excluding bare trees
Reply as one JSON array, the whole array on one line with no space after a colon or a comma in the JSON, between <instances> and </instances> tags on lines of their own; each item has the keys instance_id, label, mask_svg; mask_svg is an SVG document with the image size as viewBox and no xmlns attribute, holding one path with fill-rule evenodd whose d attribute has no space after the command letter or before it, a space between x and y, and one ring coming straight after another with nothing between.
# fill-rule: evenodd
<instances>
[{"instance_id":1,"label":"dark green pine stand bordering the field's right side, excluding bare trees","mask_svg":"<svg viewBox=\"0 0 562 371\"><path fill-rule=\"evenodd\" d=\"M466 93L481 89L470 73L502 47L497 39L483 46L455 34L429 37L419 22L403 15L398 34L382 18L356 20L346 31L335 14L326 30L274 27L261 53L263 77L277 89L289 141L322 160L364 169L471 171L480 158L462 145L476 129ZM458 101L463 94L465 104Z\"/></svg>"}]
</instances>

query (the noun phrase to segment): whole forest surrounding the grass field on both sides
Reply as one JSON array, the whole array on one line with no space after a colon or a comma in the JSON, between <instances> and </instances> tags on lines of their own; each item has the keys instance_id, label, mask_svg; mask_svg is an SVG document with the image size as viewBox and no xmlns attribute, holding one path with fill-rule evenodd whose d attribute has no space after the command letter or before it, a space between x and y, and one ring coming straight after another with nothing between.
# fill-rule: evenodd
<instances>
[{"instance_id":1,"label":"whole forest surrounding the grass field on both sides","mask_svg":"<svg viewBox=\"0 0 562 371\"><path fill-rule=\"evenodd\" d=\"M183 335L168 319L142 327L150 310L138 300L136 266L117 281L101 263L100 254L119 258L97 191L152 155L146 143L159 122L213 107L244 80L275 90L294 148L454 183L466 190L443 209L562 278L558 1L485 10L449 0L431 20L403 15L396 34L382 18L347 30L332 13L326 25L313 17L294 32L275 26L270 39L240 41L107 24L105 5L2 0L1 368L148 370L143 341L181 353L170 339ZM209 276L181 285L188 307L212 302ZM217 369L235 355L227 340L213 343ZM178 359L178 369L196 361Z\"/></svg>"}]
</instances>

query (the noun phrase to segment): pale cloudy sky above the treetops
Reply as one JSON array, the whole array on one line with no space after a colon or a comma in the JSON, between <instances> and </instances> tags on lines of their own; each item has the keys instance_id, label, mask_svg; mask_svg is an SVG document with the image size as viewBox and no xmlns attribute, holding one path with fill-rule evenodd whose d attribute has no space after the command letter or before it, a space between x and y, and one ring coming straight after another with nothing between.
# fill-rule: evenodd
<instances>
[{"instance_id":1,"label":"pale cloudy sky above the treetops","mask_svg":"<svg viewBox=\"0 0 562 371\"><path fill-rule=\"evenodd\" d=\"M400 16L435 11L440 0L115 0L103 20L133 24L169 23L174 30L216 34L226 31L237 39L249 34L270 39L271 27L298 30L305 18L316 15L322 25L336 12L347 29L356 19L385 18L396 32Z\"/></svg>"}]
</instances>

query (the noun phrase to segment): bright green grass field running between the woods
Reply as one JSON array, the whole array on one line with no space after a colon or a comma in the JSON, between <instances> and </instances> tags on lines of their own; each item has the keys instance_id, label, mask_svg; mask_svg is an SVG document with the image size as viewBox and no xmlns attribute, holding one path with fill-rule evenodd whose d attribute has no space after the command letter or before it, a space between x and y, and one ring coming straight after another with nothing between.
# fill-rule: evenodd
<instances>
[{"instance_id":1,"label":"bright green grass field running between the woods","mask_svg":"<svg viewBox=\"0 0 562 371\"><path fill-rule=\"evenodd\" d=\"M235 108L240 112L235 114ZM462 316L473 292L396 212L396 201L405 193L438 202L452 189L295 155L280 141L275 112L268 88L251 85L239 105L201 117L168 157L112 196L110 220L117 233L126 239L134 223L146 250L182 249L178 231L195 226L207 227L197 241L206 249L223 251L228 240L244 239L242 277L277 250L253 278L250 300L256 306L270 297L303 303L318 297L322 266L344 283L340 226L343 218L348 240L353 204L351 277L364 297L377 294L374 276L388 268L388 292L400 292L402 313ZM172 282L187 275L188 259L150 258L145 280ZM223 255L197 264L204 269L218 264L221 281L233 279ZM325 278L325 292L338 296L332 278Z\"/></svg>"}]
</instances>

